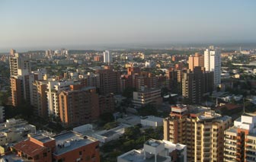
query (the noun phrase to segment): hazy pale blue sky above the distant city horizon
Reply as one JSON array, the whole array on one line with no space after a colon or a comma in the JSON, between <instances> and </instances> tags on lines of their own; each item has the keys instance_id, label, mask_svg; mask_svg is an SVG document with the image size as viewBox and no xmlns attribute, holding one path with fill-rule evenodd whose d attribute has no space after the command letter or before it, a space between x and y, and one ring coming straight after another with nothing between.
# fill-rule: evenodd
<instances>
[{"instance_id":1,"label":"hazy pale blue sky above the distant city horizon","mask_svg":"<svg viewBox=\"0 0 256 162\"><path fill-rule=\"evenodd\" d=\"M0 0L0 52L256 43L255 0Z\"/></svg>"}]
</instances>

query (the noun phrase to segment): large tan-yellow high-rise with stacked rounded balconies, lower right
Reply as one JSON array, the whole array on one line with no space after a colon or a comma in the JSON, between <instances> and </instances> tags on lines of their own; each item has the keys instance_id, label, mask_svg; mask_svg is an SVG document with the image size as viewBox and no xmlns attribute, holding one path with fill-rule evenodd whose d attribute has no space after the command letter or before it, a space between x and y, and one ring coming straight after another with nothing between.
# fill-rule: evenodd
<instances>
[{"instance_id":1,"label":"large tan-yellow high-rise with stacked rounded balconies, lower right","mask_svg":"<svg viewBox=\"0 0 256 162\"><path fill-rule=\"evenodd\" d=\"M207 108L171 106L170 117L164 119L164 140L187 145L187 161L222 161L224 131L231 124L231 117Z\"/></svg>"}]
</instances>

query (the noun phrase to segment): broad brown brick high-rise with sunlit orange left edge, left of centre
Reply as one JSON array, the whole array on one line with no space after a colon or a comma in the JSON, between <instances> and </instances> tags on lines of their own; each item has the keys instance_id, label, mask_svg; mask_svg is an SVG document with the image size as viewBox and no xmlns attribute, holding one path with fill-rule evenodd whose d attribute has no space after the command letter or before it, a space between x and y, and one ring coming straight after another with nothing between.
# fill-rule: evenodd
<instances>
[{"instance_id":1,"label":"broad brown brick high-rise with sunlit orange left edge, left of centre","mask_svg":"<svg viewBox=\"0 0 256 162\"><path fill-rule=\"evenodd\" d=\"M63 125L83 125L100 115L99 99L95 87L71 85L59 94L59 117Z\"/></svg>"}]
</instances>

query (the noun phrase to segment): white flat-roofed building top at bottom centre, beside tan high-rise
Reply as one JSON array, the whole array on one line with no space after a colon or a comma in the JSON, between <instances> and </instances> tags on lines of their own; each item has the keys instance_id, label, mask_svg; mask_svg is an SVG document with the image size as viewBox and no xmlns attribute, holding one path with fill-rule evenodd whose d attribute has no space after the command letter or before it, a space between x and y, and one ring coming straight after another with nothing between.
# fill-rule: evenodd
<instances>
[{"instance_id":1,"label":"white flat-roofed building top at bottom centre, beside tan high-rise","mask_svg":"<svg viewBox=\"0 0 256 162\"><path fill-rule=\"evenodd\" d=\"M187 161L186 145L149 139L140 150L128 151L117 157L117 162L171 162Z\"/></svg>"}]
</instances>

